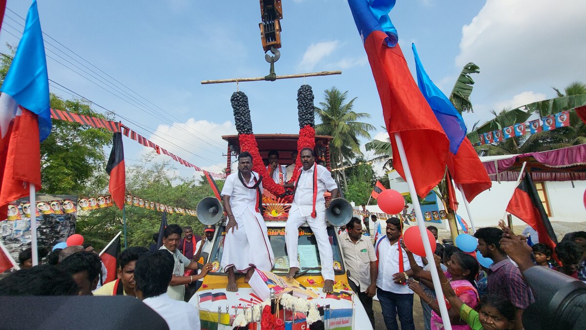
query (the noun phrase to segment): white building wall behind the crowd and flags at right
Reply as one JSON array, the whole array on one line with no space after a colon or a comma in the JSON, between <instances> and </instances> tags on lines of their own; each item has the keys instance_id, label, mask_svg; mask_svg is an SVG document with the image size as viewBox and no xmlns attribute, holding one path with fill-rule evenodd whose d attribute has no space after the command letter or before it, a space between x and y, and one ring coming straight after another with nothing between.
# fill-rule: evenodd
<instances>
[{"instance_id":1,"label":"white building wall behind the crowd and flags at right","mask_svg":"<svg viewBox=\"0 0 586 330\"><path fill-rule=\"evenodd\" d=\"M584 190L586 181L546 181L547 197L549 198L552 216L551 221L582 222L586 221L586 209L584 208ZM509 198L515 190L515 182L498 183L493 181L492 188L485 190L470 203L472 217L476 227L496 225L505 213L509 204ZM464 200L459 191L458 214L468 221L468 214L464 206ZM513 216L513 224L522 225L523 221Z\"/></svg>"}]
</instances>

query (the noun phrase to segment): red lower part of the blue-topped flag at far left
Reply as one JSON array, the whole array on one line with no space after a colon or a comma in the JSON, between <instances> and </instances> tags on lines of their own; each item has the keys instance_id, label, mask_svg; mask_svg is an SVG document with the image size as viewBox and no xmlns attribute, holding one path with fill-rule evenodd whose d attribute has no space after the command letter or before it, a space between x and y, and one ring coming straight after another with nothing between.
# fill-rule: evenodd
<instances>
[{"instance_id":1,"label":"red lower part of the blue-topped flag at far left","mask_svg":"<svg viewBox=\"0 0 586 330\"><path fill-rule=\"evenodd\" d=\"M6 93L2 99L12 100ZM12 102L14 102L12 100ZM14 114L9 104L2 102L0 113ZM12 103L16 106L15 103ZM29 195L29 183L40 189L40 143L38 116L19 107L12 120L2 118L2 139L0 140L0 215L6 218L8 204ZM2 123L2 124L4 124ZM5 130L6 127L6 130Z\"/></svg>"}]
</instances>

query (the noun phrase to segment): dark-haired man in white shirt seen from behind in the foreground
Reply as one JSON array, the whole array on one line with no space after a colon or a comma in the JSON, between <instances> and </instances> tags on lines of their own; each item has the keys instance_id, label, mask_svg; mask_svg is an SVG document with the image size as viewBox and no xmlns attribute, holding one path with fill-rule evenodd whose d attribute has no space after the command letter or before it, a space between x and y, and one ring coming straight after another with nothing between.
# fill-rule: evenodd
<instances>
[{"instance_id":1,"label":"dark-haired man in white shirt seen from behind in the foreground","mask_svg":"<svg viewBox=\"0 0 586 330\"><path fill-rule=\"evenodd\" d=\"M173 268L173 258L165 251L149 251L141 255L134 267L137 298L161 315L170 330L199 330L197 307L173 300L167 294Z\"/></svg>"}]
</instances>

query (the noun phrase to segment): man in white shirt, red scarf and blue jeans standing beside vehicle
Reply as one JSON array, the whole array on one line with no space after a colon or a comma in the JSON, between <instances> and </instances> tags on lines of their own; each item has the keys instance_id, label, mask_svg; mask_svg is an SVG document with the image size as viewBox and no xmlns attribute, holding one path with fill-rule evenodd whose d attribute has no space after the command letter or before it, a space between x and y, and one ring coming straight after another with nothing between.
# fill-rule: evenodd
<instances>
[{"instance_id":1,"label":"man in white shirt, red scarf and blue jeans standing beside vehicle","mask_svg":"<svg viewBox=\"0 0 586 330\"><path fill-rule=\"evenodd\" d=\"M381 237L374 250L379 258L379 276L376 280L376 296L383 311L388 330L398 330L397 314L401 329L415 330L413 322L413 291L407 286L413 276L407 253L400 246L401 220L387 220L387 235ZM423 267L421 257L414 255L415 263Z\"/></svg>"}]
</instances>

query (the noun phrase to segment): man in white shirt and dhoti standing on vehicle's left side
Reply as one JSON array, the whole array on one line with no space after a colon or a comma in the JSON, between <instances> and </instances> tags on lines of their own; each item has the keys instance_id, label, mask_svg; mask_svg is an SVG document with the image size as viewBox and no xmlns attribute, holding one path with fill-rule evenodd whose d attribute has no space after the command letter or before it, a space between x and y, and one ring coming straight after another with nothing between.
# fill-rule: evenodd
<instances>
[{"instance_id":1,"label":"man in white shirt and dhoti standing on vehicle's left side","mask_svg":"<svg viewBox=\"0 0 586 330\"><path fill-rule=\"evenodd\" d=\"M263 177L252 168L253 156L248 151L239 154L238 172L226 178L222 189L228 224L220 264L228 273L226 290L230 292L238 291L235 272L246 273L244 282L248 283L254 268L268 272L275 262L261 215Z\"/></svg>"}]
</instances>

